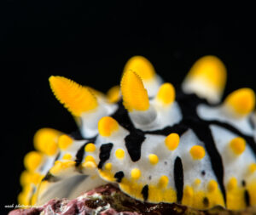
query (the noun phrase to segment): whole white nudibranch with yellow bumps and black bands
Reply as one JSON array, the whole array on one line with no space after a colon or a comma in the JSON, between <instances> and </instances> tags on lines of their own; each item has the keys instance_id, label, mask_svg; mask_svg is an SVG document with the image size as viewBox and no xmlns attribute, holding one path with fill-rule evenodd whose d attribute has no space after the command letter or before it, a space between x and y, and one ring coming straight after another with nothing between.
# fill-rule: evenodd
<instances>
[{"instance_id":1,"label":"whole white nudibranch with yellow bumps and black bands","mask_svg":"<svg viewBox=\"0 0 256 215\"><path fill-rule=\"evenodd\" d=\"M20 204L74 198L112 183L139 201L255 206L255 94L240 88L222 99L226 76L212 55L195 62L181 88L164 82L143 56L128 60L120 86L106 94L50 76L79 131L35 134L20 176Z\"/></svg>"}]
</instances>

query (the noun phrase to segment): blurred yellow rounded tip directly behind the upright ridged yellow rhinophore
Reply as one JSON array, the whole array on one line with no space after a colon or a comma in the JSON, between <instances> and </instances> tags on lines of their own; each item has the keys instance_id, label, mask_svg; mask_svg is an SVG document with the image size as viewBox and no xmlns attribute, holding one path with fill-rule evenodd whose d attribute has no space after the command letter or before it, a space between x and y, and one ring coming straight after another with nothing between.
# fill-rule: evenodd
<instances>
[{"instance_id":1,"label":"blurred yellow rounded tip directly behind the upright ridged yellow rhinophore","mask_svg":"<svg viewBox=\"0 0 256 215\"><path fill-rule=\"evenodd\" d=\"M134 56L129 59L125 65L124 72L135 71L143 80L154 78L154 66L143 56Z\"/></svg>"}]
</instances>

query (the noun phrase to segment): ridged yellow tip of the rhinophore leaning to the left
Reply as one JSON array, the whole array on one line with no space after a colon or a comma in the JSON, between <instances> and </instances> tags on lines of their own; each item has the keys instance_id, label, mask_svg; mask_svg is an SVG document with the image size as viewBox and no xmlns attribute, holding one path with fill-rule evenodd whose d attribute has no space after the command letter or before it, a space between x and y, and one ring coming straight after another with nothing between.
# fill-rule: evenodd
<instances>
[{"instance_id":1,"label":"ridged yellow tip of the rhinophore leaning to the left","mask_svg":"<svg viewBox=\"0 0 256 215\"><path fill-rule=\"evenodd\" d=\"M94 110L97 100L89 88L85 88L62 76L50 76L49 85L55 97L69 110L73 116Z\"/></svg>"}]
</instances>

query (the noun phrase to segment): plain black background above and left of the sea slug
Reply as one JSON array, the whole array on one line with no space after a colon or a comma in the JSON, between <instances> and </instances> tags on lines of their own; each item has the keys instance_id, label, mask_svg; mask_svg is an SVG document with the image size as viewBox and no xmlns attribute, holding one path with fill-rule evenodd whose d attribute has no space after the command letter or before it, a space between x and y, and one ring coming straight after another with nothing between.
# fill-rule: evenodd
<instances>
[{"instance_id":1,"label":"plain black background above and left of the sea slug","mask_svg":"<svg viewBox=\"0 0 256 215\"><path fill-rule=\"evenodd\" d=\"M177 86L196 59L214 54L228 69L224 95L242 87L256 91L250 6L92 2L1 2L1 211L17 203L23 156L38 128L77 129L50 92L50 75L106 92L119 84L126 60L141 54Z\"/></svg>"}]
</instances>

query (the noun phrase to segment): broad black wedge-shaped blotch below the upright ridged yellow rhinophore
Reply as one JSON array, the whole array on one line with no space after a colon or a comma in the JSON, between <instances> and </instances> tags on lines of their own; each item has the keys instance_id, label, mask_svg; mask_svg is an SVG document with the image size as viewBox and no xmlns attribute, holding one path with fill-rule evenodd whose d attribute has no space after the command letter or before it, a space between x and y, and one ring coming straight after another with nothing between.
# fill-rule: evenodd
<instances>
[{"instance_id":1,"label":"broad black wedge-shaped blotch below the upright ridged yellow rhinophore","mask_svg":"<svg viewBox=\"0 0 256 215\"><path fill-rule=\"evenodd\" d=\"M131 161L138 161L141 158L141 148L145 136L143 131L132 129L130 134L125 137L125 146L131 157Z\"/></svg>"}]
</instances>

